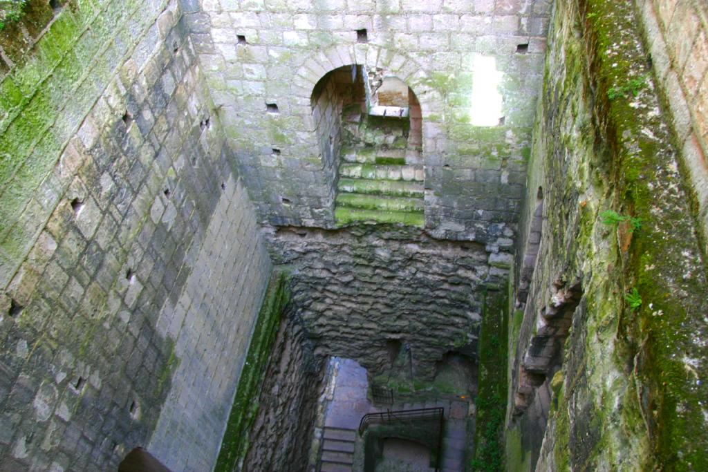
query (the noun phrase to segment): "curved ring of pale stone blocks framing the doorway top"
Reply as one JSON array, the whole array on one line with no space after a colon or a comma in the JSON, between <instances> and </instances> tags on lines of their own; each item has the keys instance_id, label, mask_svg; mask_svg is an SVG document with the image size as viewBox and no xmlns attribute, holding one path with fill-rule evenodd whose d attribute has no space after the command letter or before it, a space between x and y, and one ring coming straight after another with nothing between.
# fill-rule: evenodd
<instances>
[{"instance_id":1,"label":"curved ring of pale stone blocks framing the doorway top","mask_svg":"<svg viewBox=\"0 0 708 472\"><path fill-rule=\"evenodd\" d=\"M435 142L442 126L429 120L426 116L440 108L440 93L430 86L430 78L421 65L406 54L372 44L337 45L320 50L308 57L295 73L293 90L297 95L297 103L309 104L314 87L329 71L350 65L362 66L365 69L377 67L384 74L396 76L404 81L416 95L421 105L422 148L423 156L435 151ZM314 120L309 123L309 129L314 131Z\"/></svg>"}]
</instances>

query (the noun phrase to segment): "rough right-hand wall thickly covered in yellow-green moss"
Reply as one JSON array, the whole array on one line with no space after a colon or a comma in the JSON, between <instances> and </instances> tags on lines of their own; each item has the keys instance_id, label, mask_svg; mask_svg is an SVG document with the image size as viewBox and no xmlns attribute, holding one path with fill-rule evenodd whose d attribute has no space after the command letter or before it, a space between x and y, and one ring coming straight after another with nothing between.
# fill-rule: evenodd
<instances>
[{"instance_id":1,"label":"rough right-hand wall thickly covered in yellow-green moss","mask_svg":"<svg viewBox=\"0 0 708 472\"><path fill-rule=\"evenodd\" d=\"M542 239L511 346L520 470L706 467L706 267L633 8L554 11L525 209L542 185Z\"/></svg>"}]
</instances>

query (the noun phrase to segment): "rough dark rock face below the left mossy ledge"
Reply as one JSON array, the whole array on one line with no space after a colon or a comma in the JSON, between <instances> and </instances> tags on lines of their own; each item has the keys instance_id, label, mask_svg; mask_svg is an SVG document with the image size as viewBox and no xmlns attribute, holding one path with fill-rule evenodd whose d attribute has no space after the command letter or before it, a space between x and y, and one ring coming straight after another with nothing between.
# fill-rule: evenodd
<instances>
[{"instance_id":1,"label":"rough dark rock face below the left mossy ledge","mask_svg":"<svg viewBox=\"0 0 708 472\"><path fill-rule=\"evenodd\" d=\"M299 322L283 318L258 396L251 448L239 470L307 469L322 369L323 359L315 357Z\"/></svg>"}]
</instances>

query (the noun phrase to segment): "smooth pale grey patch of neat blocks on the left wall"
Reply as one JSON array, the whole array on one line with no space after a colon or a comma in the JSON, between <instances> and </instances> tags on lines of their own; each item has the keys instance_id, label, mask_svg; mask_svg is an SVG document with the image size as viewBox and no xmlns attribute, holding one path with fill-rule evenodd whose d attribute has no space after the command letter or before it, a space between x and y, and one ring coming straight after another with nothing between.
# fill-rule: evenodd
<instances>
[{"instance_id":1,"label":"smooth pale grey patch of neat blocks on the left wall","mask_svg":"<svg viewBox=\"0 0 708 472\"><path fill-rule=\"evenodd\" d=\"M179 299L162 306L159 335L178 365L147 449L172 471L214 468L270 276L243 185L229 176ZM267 470L267 469L263 469Z\"/></svg>"}]
</instances>

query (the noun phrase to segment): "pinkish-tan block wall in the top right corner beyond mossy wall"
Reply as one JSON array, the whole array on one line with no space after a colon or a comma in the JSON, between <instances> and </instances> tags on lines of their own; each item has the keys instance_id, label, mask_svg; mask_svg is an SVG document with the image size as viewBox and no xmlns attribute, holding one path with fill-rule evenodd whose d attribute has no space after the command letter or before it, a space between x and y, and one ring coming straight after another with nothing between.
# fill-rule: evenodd
<instances>
[{"instance_id":1,"label":"pinkish-tan block wall in the top right corner beyond mossy wall","mask_svg":"<svg viewBox=\"0 0 708 472\"><path fill-rule=\"evenodd\" d=\"M708 253L708 3L636 0Z\"/></svg>"}]
</instances>

